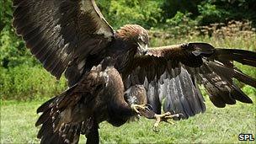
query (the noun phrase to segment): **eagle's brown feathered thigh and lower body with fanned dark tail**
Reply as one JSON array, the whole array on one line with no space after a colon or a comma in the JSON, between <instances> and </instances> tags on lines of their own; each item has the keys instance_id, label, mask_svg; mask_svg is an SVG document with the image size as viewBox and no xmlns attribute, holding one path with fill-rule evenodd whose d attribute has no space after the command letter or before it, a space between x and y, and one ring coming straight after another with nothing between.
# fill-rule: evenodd
<instances>
[{"instance_id":1,"label":"eagle's brown feathered thigh and lower body with fanned dark tail","mask_svg":"<svg viewBox=\"0 0 256 144\"><path fill-rule=\"evenodd\" d=\"M88 143L99 143L100 122L120 126L136 115L125 102L124 91L119 72L109 58L104 59L72 88L37 109L43 113L35 123L42 125L37 137L41 143L77 143L81 133Z\"/></svg>"}]
</instances>

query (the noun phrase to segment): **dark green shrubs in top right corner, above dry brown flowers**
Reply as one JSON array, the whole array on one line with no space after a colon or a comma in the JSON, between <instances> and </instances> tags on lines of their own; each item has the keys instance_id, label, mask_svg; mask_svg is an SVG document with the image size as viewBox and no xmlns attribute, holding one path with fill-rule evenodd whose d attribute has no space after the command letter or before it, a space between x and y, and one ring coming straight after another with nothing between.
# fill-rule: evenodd
<instances>
[{"instance_id":1,"label":"dark green shrubs in top right corner, above dry brown flowers","mask_svg":"<svg viewBox=\"0 0 256 144\"><path fill-rule=\"evenodd\" d=\"M202 25L250 20L255 26L256 3L253 0L205 0L198 5L198 21Z\"/></svg>"}]
</instances>

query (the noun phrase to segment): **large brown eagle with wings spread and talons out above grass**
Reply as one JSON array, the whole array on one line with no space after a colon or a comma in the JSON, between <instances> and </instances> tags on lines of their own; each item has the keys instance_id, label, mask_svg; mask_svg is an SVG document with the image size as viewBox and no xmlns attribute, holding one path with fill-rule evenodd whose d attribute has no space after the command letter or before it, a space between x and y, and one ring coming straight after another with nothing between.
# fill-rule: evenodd
<instances>
[{"instance_id":1,"label":"large brown eagle with wings spread and talons out above grass","mask_svg":"<svg viewBox=\"0 0 256 144\"><path fill-rule=\"evenodd\" d=\"M94 0L13 0L13 27L31 53L69 88L42 104L41 143L99 143L99 123L120 126L138 114L160 121L205 112L202 85L219 108L251 104L233 79L256 80L233 61L256 67L256 53L207 43L150 47L147 30L114 30ZM164 114L161 115L163 108Z\"/></svg>"}]
</instances>

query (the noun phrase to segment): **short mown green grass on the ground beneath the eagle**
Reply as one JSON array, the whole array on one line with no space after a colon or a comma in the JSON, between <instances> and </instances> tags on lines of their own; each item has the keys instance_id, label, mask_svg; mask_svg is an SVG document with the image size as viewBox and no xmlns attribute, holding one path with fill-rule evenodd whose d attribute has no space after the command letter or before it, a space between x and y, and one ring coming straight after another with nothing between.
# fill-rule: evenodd
<instances>
[{"instance_id":1,"label":"short mown green grass on the ground beneath the eagle","mask_svg":"<svg viewBox=\"0 0 256 144\"><path fill-rule=\"evenodd\" d=\"M250 88L248 88L250 89ZM250 97L255 103L255 94ZM175 125L161 123L160 131L152 131L154 120L141 118L140 121L114 127L104 122L100 124L101 143L233 143L238 134L256 134L255 104L228 105L218 109L205 97L205 114L189 120L175 121ZM38 118L35 110L44 100L34 102L2 101L1 104L1 143L38 143L39 128L35 127ZM85 138L81 136L80 143Z\"/></svg>"}]
</instances>

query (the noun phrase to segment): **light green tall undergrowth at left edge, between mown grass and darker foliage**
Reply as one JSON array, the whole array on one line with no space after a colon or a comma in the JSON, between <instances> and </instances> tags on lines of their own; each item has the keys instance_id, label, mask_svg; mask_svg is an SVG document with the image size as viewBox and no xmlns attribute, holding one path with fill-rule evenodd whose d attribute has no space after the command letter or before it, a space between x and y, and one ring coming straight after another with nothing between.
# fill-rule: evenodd
<instances>
[{"instance_id":1,"label":"light green tall undergrowth at left edge, between mown grass and darker foliage","mask_svg":"<svg viewBox=\"0 0 256 144\"><path fill-rule=\"evenodd\" d=\"M1 99L32 100L51 97L67 88L65 78L56 81L42 67L30 67L26 64L19 67L0 67Z\"/></svg>"}]
</instances>

